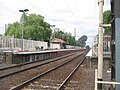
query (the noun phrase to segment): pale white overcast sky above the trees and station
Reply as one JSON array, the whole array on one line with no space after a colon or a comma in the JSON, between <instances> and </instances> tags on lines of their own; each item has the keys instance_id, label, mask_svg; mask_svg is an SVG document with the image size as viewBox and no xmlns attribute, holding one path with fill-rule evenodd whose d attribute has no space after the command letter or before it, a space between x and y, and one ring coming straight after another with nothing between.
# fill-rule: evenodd
<instances>
[{"instance_id":1,"label":"pale white overcast sky above the trees and station","mask_svg":"<svg viewBox=\"0 0 120 90\"><path fill-rule=\"evenodd\" d=\"M19 21L20 9L29 9L64 32L90 36L98 33L98 0L0 0L0 34L5 24ZM110 10L110 0L104 0L104 11ZM91 41L90 41L91 42Z\"/></svg>"}]
</instances>

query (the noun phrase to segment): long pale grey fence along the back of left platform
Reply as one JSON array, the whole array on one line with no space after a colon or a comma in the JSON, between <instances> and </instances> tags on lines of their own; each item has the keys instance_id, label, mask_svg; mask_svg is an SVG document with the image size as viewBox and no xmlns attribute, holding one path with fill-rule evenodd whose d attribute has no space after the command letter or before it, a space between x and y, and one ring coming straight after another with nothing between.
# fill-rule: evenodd
<instances>
[{"instance_id":1,"label":"long pale grey fence along the back of left platform","mask_svg":"<svg viewBox=\"0 0 120 90\"><path fill-rule=\"evenodd\" d=\"M24 50L35 51L37 48L47 49L47 42L23 39ZM0 48L6 50L21 50L22 39L0 36Z\"/></svg>"}]
</instances>

